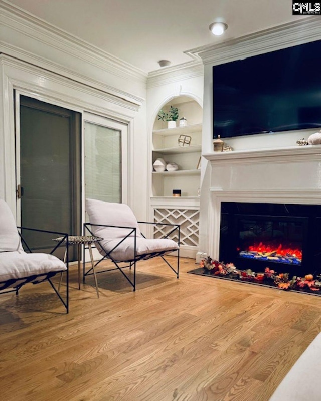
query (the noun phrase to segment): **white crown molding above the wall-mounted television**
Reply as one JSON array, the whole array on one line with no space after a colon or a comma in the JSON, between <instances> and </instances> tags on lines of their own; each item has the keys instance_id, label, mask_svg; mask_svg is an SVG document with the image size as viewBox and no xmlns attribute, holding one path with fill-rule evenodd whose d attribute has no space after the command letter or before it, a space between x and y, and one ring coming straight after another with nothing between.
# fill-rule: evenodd
<instances>
[{"instance_id":1,"label":"white crown molding above the wall-mounted television","mask_svg":"<svg viewBox=\"0 0 321 401\"><path fill-rule=\"evenodd\" d=\"M204 65L216 65L319 39L320 17L308 16L219 44L190 49L185 53L194 59L201 59Z\"/></svg>"}]
</instances>

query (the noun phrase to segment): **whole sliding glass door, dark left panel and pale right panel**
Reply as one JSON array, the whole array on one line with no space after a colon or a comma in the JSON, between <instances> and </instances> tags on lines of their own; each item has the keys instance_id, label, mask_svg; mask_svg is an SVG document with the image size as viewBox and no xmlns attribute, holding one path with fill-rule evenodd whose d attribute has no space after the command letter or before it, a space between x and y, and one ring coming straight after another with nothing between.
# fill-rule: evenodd
<instances>
[{"instance_id":1,"label":"whole sliding glass door, dark left panel and pale right panel","mask_svg":"<svg viewBox=\"0 0 321 401\"><path fill-rule=\"evenodd\" d=\"M126 124L16 93L16 127L19 226L80 235L86 197L128 202ZM52 248L50 236L27 236L33 250Z\"/></svg>"}]
</instances>

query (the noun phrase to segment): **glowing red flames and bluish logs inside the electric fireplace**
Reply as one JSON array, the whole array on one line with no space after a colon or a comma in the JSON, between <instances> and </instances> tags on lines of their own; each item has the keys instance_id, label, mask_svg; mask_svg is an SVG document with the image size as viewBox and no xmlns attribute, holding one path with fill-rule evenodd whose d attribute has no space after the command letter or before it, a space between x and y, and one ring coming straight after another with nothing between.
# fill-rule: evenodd
<instances>
[{"instance_id":1,"label":"glowing red flames and bluish logs inside the electric fireplace","mask_svg":"<svg viewBox=\"0 0 321 401\"><path fill-rule=\"evenodd\" d=\"M291 248L290 246L283 247L279 244L275 245L259 244L250 245L248 249L241 251L237 249L239 256L242 258L250 258L262 261L279 262L300 265L302 263L302 250Z\"/></svg>"}]
</instances>

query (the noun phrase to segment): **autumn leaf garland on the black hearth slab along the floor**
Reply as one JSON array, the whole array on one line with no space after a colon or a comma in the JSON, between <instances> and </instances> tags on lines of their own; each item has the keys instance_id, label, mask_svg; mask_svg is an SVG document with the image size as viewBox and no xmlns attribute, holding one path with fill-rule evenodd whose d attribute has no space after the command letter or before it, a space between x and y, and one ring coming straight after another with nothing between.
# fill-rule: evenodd
<instances>
[{"instance_id":1,"label":"autumn leaf garland on the black hearth slab along the floor","mask_svg":"<svg viewBox=\"0 0 321 401\"><path fill-rule=\"evenodd\" d=\"M320 275L316 276L318 279L315 279L312 274L307 274L304 277L293 276L290 278L289 273L277 273L268 267L264 269L264 272L254 272L251 269L240 270L233 263L224 264L212 259L210 256L202 259L200 268L191 270L188 273L276 287L280 290L321 295L318 293L321 288Z\"/></svg>"}]
</instances>

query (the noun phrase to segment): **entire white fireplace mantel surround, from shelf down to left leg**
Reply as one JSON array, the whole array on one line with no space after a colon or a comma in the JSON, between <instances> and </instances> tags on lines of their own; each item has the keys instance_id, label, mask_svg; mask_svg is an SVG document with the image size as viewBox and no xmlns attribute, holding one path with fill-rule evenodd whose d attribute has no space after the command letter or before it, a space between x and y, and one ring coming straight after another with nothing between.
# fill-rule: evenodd
<instances>
[{"instance_id":1,"label":"entire white fireplace mantel surround, from shelf down to left leg","mask_svg":"<svg viewBox=\"0 0 321 401\"><path fill-rule=\"evenodd\" d=\"M218 258L222 202L321 204L321 145L203 154L209 160L205 252ZM202 249L202 250L203 250Z\"/></svg>"}]
</instances>

